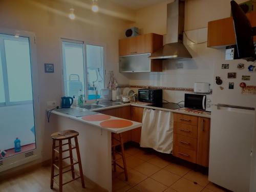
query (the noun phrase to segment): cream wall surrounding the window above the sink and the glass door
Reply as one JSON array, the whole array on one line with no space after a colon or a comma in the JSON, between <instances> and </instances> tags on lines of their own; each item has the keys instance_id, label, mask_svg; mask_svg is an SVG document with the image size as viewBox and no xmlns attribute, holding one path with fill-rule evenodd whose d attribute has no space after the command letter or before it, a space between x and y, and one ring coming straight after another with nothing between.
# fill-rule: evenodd
<instances>
[{"instance_id":1,"label":"cream wall surrounding the window above the sink and the glass door","mask_svg":"<svg viewBox=\"0 0 256 192\"><path fill-rule=\"evenodd\" d=\"M72 6L75 20L68 18ZM61 37L104 44L106 74L113 70L119 82L129 81L118 73L118 39L133 19L133 12L110 1L99 1L99 6L100 13L93 13L89 0L0 1L0 28L30 31L36 35L42 160L50 158L50 134L55 131L55 127L49 126L46 121L46 102L59 101L62 96ZM44 63L54 63L55 73L45 74ZM108 78L105 84L107 82Z\"/></svg>"}]
</instances>

